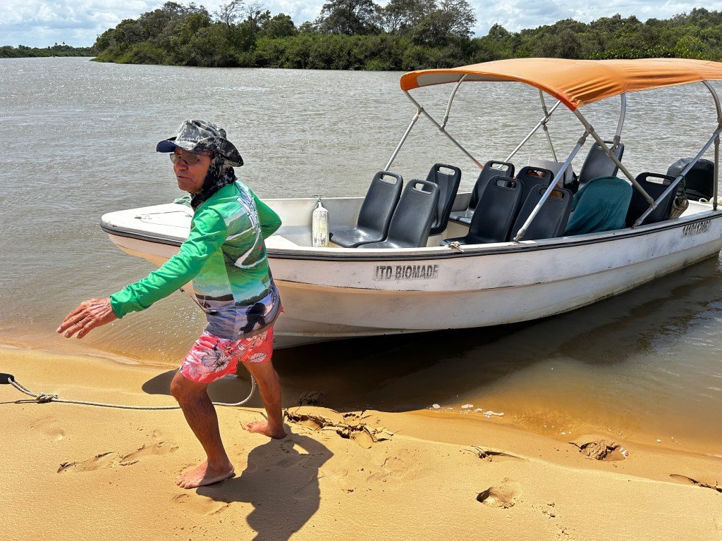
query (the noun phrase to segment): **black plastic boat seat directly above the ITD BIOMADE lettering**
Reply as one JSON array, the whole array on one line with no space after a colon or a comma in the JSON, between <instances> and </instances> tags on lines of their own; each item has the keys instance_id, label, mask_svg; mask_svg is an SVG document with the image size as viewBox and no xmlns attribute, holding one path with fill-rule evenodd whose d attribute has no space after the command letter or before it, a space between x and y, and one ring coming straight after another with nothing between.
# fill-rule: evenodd
<instances>
[{"instance_id":1,"label":"black plastic boat seat directly above the ITD BIOMADE lettering","mask_svg":"<svg viewBox=\"0 0 722 541\"><path fill-rule=\"evenodd\" d=\"M388 237L360 248L418 248L429 240L431 222L439 201L439 187L428 180L412 180L404 188L393 211Z\"/></svg>"}]
</instances>

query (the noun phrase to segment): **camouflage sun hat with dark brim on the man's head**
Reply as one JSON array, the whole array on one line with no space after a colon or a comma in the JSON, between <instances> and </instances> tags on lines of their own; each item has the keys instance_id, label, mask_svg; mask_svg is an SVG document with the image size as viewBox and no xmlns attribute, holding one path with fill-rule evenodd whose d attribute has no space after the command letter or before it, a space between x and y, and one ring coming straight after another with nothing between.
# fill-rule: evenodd
<instances>
[{"instance_id":1,"label":"camouflage sun hat with dark brim on the man's head","mask_svg":"<svg viewBox=\"0 0 722 541\"><path fill-rule=\"evenodd\" d=\"M225 130L205 120L183 120L178 135L160 141L155 147L158 152L173 152L176 148L188 152L214 152L233 167L243 165L243 158L226 138Z\"/></svg>"}]
</instances>

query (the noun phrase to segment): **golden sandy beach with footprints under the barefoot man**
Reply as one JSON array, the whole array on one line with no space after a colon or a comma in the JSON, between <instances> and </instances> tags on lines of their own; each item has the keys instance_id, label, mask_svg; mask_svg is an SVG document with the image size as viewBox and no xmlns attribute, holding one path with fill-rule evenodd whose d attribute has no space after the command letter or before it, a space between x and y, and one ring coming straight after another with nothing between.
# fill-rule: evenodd
<instances>
[{"instance_id":1,"label":"golden sandy beach with footprints under the barefoot man","mask_svg":"<svg viewBox=\"0 0 722 541\"><path fill-rule=\"evenodd\" d=\"M173 371L0 348L33 392L170 405ZM235 401L248 382L223 379ZM218 408L236 477L196 490L173 478L203 455L179 410L38 404L0 387L2 540L722 540L722 458L610 439L574 444L503 418L338 413L287 405L288 436ZM582 447L583 449L580 449Z\"/></svg>"}]
</instances>

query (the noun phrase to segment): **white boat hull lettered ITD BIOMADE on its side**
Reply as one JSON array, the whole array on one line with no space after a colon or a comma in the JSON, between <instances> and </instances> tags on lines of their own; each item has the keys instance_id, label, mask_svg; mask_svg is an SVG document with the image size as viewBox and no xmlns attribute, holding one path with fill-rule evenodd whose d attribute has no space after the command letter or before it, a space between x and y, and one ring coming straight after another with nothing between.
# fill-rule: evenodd
<instances>
[{"instance_id":1,"label":"white boat hull lettered ITD BIOMADE on its side","mask_svg":"<svg viewBox=\"0 0 722 541\"><path fill-rule=\"evenodd\" d=\"M637 229L464 252L292 248L271 237L284 303L277 345L502 325L593 304L716 255L722 214L697 210ZM179 242L104 229L122 250L156 265L178 251Z\"/></svg>"}]
</instances>

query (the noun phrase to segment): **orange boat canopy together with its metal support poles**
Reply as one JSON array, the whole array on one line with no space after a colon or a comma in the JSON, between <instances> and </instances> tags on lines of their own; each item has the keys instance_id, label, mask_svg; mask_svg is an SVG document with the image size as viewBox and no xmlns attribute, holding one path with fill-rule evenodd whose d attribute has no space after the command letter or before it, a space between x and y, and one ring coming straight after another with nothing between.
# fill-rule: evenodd
<instances>
[{"instance_id":1,"label":"orange boat canopy together with its metal support poles","mask_svg":"<svg viewBox=\"0 0 722 541\"><path fill-rule=\"evenodd\" d=\"M414 124L419 119L420 115L424 115L428 118L438 130L447 136L458 149L460 149L466 156L468 156L477 167L482 167L482 164L475 159L469 151L466 151L461 144L456 141L447 131L446 123L448 122L448 116L451 111L451 105L453 99L456 96L458 87L462 82L469 81L494 81L494 82L522 82L529 84L532 87L539 89L539 96L541 99L541 107L544 111L544 117L539 120L539 123L531 130L523 141L514 149L511 154L507 157L508 161L513 157L516 152L521 149L523 144L529 140L529 138L540 128L544 128L544 133L547 136L549 147L552 151L552 155L556 160L556 152L552 145L549 131L547 130L547 122L554 113L554 110L560 104L564 104L569 108L575 116L580 120L584 127L582 136L577 141L573 150L569 154L569 157L565 160L557 172L557 177L562 177L565 170L570 166L572 159L578 153L580 148L583 146L586 138L592 136L594 141L606 151L612 161L617 164L619 170L630 180L632 185L642 193L647 201L650 203L645 213L640 216L638 221L635 222L634 226L638 226L643 220L656 208L656 206L666 196L677 188L677 185L682 180L684 175L694 166L694 164L703 156L705 151L710 147L711 144L715 145L715 184L714 184L714 200L713 208L717 209L717 179L719 173L719 140L720 133L722 132L722 109L720 100L708 81L722 80L722 63L711 62L711 61L700 61L700 60L687 60L682 58L643 58L640 60L567 60L564 58L515 58L510 60L501 60L494 62L485 62L480 64L474 64L471 66L462 66L453 69L430 69L421 71L412 71L404 76L401 76L401 89L404 90L406 97L414 103L417 107L417 113L412 118L409 127L406 128L406 133L401 138L399 145L391 155L386 164L386 169L391 167L391 163L399 153L401 146L404 141L411 133ZM627 168L619 162L619 159L614 156L612 149L614 149L621 138L622 124L624 123L626 113L626 92L636 92L639 90L671 87L679 84L687 84L691 82L702 82L708 88L713 96L717 111L717 128L713 132L710 139L703 146L703 149L697 154L697 156L687 165L687 167L680 172L674 182L671 182L669 187L664 193L654 201L648 193L635 180L635 177L627 170ZM448 84L455 83L451 96L448 100L448 105L444 114L444 118L441 123L438 123L422 105L414 100L409 91L419 87L427 87L436 84ZM557 98L551 109L547 109L547 105L544 102L544 93L550 94L552 97ZM619 114L619 123L617 123L617 131L614 135L614 141L612 142L612 148L607 146L599 134L596 133L591 123L580 113L579 108L588 103L604 100L609 97L619 95L622 100L621 110ZM528 229L531 221L534 220L536 214L539 213L539 209L547 200L549 195L554 190L554 184L550 184L547 188L546 193L537 204L534 211L531 212L529 219L523 224L521 229L514 237L514 240L518 242L521 240Z\"/></svg>"}]
</instances>

